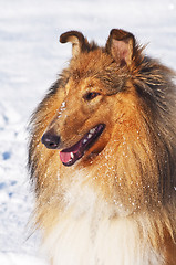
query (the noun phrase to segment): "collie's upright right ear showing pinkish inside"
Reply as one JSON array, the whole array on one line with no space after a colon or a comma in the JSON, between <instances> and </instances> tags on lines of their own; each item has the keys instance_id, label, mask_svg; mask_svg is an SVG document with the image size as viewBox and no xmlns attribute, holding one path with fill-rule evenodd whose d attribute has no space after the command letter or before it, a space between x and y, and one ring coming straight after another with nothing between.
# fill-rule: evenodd
<instances>
[{"instance_id":1,"label":"collie's upright right ear showing pinkish inside","mask_svg":"<svg viewBox=\"0 0 176 265\"><path fill-rule=\"evenodd\" d=\"M121 66L130 66L135 53L135 38L132 33L113 29L110 32L110 36L106 43L106 52L113 56L113 59Z\"/></svg>"}]
</instances>

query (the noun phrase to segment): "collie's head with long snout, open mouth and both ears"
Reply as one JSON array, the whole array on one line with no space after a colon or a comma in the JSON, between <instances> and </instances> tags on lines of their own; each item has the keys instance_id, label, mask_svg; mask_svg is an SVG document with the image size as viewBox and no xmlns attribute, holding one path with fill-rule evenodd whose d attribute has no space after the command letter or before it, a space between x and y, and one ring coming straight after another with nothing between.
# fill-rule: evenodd
<instances>
[{"instance_id":1,"label":"collie's head with long snout, open mouth and both ears","mask_svg":"<svg viewBox=\"0 0 176 265\"><path fill-rule=\"evenodd\" d=\"M108 142L114 124L123 116L121 92L127 91L137 49L134 36L122 30L111 31L105 49L76 31L62 34L60 41L72 43L73 57L62 104L42 142L62 150L61 161L71 166L83 155L99 153Z\"/></svg>"}]
</instances>

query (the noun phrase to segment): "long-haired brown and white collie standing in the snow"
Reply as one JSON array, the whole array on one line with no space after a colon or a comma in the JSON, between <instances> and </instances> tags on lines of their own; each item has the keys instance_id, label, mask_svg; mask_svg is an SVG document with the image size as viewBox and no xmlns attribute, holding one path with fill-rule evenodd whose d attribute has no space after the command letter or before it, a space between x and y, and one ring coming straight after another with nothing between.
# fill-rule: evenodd
<instances>
[{"instance_id":1,"label":"long-haired brown and white collie standing in the snow","mask_svg":"<svg viewBox=\"0 0 176 265\"><path fill-rule=\"evenodd\" d=\"M113 29L72 59L31 119L35 226L52 265L176 264L174 72Z\"/></svg>"}]
</instances>

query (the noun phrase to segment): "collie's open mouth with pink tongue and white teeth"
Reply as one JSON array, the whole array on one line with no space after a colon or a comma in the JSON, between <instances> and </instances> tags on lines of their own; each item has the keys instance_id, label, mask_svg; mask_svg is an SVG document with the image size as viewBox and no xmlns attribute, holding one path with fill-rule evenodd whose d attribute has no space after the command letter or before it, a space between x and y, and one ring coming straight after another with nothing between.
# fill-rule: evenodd
<instances>
[{"instance_id":1,"label":"collie's open mouth with pink tongue and white teeth","mask_svg":"<svg viewBox=\"0 0 176 265\"><path fill-rule=\"evenodd\" d=\"M69 167L81 159L84 156L85 151L94 145L94 142L103 132L104 128L104 124L95 126L89 130L89 132L86 132L84 137L74 146L60 151L60 159L62 163Z\"/></svg>"}]
</instances>

